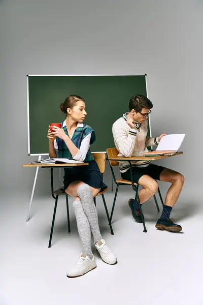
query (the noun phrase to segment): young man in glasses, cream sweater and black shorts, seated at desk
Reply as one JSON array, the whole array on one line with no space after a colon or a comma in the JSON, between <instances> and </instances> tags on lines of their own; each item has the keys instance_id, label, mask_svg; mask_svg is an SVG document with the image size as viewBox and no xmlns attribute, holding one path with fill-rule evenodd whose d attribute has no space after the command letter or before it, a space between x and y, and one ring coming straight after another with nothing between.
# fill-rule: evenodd
<instances>
[{"instance_id":1,"label":"young man in glasses, cream sweater and black shorts, seated at desk","mask_svg":"<svg viewBox=\"0 0 203 305\"><path fill-rule=\"evenodd\" d=\"M140 156L144 151L148 151L147 146L158 145L161 138L166 135L161 134L157 138L147 136L148 115L152 107L152 102L143 95L136 95L130 99L129 112L124 113L122 117L117 119L112 128L114 142L119 151L118 156ZM182 227L174 224L170 219L170 214L182 190L183 175L174 170L152 164L150 161L132 161L131 164L133 181L143 187L139 192L141 205L156 193L158 189L156 180L171 182L172 185L166 194L162 214L155 227L160 230L180 232ZM119 170L123 179L131 180L127 161L119 162ZM128 204L133 218L142 223L138 201L129 199Z\"/></svg>"}]
</instances>

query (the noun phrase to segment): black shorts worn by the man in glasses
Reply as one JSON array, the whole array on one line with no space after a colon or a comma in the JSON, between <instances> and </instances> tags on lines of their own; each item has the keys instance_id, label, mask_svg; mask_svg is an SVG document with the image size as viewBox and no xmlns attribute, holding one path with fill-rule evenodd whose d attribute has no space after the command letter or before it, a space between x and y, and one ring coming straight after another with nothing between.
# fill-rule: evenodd
<instances>
[{"instance_id":1,"label":"black shorts worn by the man in glasses","mask_svg":"<svg viewBox=\"0 0 203 305\"><path fill-rule=\"evenodd\" d=\"M165 167L150 163L147 167L132 167L133 182L138 184L139 179L144 175L149 175L155 180L160 180L160 174ZM125 173L121 173L121 177L125 180L131 181L130 170Z\"/></svg>"}]
</instances>

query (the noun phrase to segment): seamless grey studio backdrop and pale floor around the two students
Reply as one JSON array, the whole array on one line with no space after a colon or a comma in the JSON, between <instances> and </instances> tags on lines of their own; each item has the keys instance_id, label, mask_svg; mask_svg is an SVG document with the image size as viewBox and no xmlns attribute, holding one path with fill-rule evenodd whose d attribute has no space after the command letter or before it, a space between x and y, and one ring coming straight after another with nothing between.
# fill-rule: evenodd
<instances>
[{"instance_id":1,"label":"seamless grey studio backdrop and pale floor around the two students","mask_svg":"<svg viewBox=\"0 0 203 305\"><path fill-rule=\"evenodd\" d=\"M202 304L202 16L201 0L0 0L1 305L65 304L67 298L103 304L107 297L111 304ZM158 163L185 176L172 216L185 234L157 232L158 216L148 203L144 234L126 205L132 192L121 190L114 236L97 205L101 231L119 263L108 266L97 257L95 271L69 281L65 272L81 246L72 209L67 234L61 199L56 244L47 248L53 212L48 170L39 171L34 217L25 221L35 175L21 166L35 159L27 155L26 75L144 73L154 104L153 136L186 133L184 155ZM105 182L111 182L109 168ZM166 187L160 184L163 194ZM106 195L109 209L113 195Z\"/></svg>"}]
</instances>

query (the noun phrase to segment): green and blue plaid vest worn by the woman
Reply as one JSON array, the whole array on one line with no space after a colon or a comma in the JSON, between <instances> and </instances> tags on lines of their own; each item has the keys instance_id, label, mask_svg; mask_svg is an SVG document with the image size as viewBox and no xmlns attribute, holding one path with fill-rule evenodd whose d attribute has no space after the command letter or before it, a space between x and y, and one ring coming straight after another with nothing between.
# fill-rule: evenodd
<instances>
[{"instance_id":1,"label":"green and blue plaid vest worn by the woman","mask_svg":"<svg viewBox=\"0 0 203 305\"><path fill-rule=\"evenodd\" d=\"M63 123L61 123L61 128L64 130L65 134L69 137L69 133L67 132L66 126L62 127L62 125L63 125ZM81 145L82 140L90 132L92 133L91 134L91 139L90 139L90 144L93 144L96 141L96 136L95 136L94 130L90 126L83 123L83 127L77 127L76 128L71 140L76 145L76 147L78 149L80 149L80 145ZM58 145L58 157L73 160L73 157L70 153L70 150L65 145L65 142L62 139L56 137L56 143ZM89 149L87 151L86 158L83 162L88 162L88 161L91 161L91 160L94 160L94 158L93 158L93 156L91 154L91 151Z\"/></svg>"}]
</instances>

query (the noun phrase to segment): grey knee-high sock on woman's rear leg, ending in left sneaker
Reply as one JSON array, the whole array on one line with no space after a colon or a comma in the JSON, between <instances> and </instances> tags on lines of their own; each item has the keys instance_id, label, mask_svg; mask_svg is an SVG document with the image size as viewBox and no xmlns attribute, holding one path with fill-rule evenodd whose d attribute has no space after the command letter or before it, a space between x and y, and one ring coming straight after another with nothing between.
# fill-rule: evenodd
<instances>
[{"instance_id":1,"label":"grey knee-high sock on woman's rear leg, ending in left sneaker","mask_svg":"<svg viewBox=\"0 0 203 305\"><path fill-rule=\"evenodd\" d=\"M74 201L73 209L76 216L78 232L80 235L80 239L82 241L82 248L83 248L82 252L83 254L88 255L90 259L92 259L90 225L84 213L80 200Z\"/></svg>"}]
</instances>

